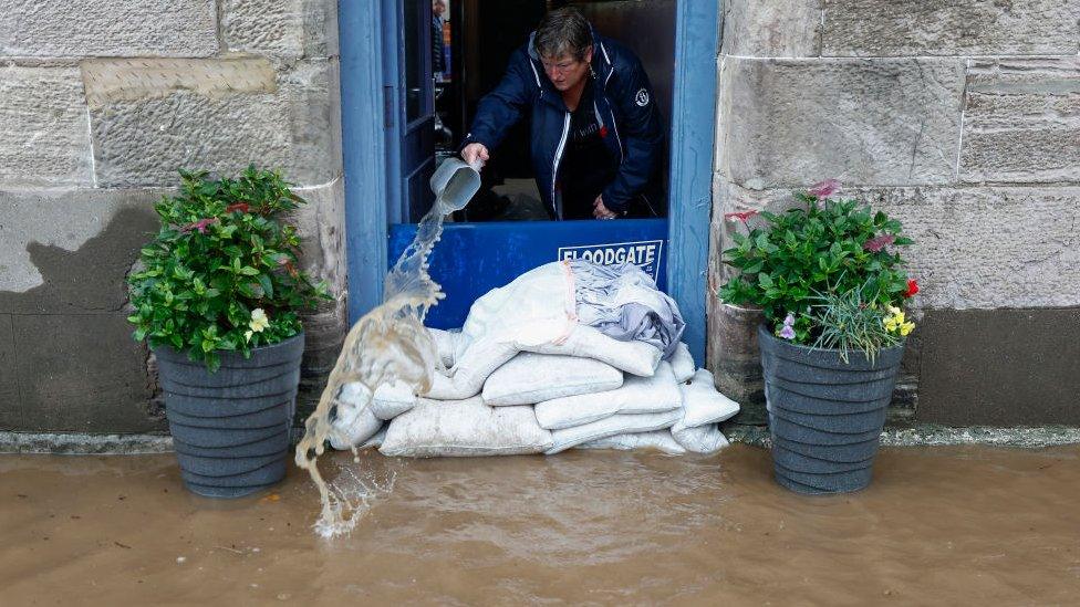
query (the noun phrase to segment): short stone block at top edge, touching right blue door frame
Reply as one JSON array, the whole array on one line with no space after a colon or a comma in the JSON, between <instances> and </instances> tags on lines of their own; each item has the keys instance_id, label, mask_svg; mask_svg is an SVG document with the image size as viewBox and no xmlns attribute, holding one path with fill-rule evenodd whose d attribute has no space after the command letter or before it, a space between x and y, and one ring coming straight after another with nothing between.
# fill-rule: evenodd
<instances>
[{"instance_id":1,"label":"short stone block at top edge, touching right blue door frame","mask_svg":"<svg viewBox=\"0 0 1080 607\"><path fill-rule=\"evenodd\" d=\"M821 53L819 0L728 0L723 52L741 56L817 56Z\"/></svg>"}]
</instances>

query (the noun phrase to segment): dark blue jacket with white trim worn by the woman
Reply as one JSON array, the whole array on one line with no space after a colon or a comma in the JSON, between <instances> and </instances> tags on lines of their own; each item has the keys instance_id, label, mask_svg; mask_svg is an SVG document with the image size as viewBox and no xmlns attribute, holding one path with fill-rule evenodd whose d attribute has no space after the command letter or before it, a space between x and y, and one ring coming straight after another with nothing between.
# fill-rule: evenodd
<instances>
[{"instance_id":1,"label":"dark blue jacket with white trim worn by the woman","mask_svg":"<svg viewBox=\"0 0 1080 607\"><path fill-rule=\"evenodd\" d=\"M495 149L509 128L526 112L531 113L533 172L540 196L554 214L555 178L570 129L570 112L544 74L532 38L510 56L499 85L480 100L472 128L461 145L480 143ZM620 212L653 177L664 134L648 76L629 49L593 33L592 69L595 112L601 127L606 127L602 129L606 133L604 143L620 159L615 180L604 188L604 206Z\"/></svg>"}]
</instances>

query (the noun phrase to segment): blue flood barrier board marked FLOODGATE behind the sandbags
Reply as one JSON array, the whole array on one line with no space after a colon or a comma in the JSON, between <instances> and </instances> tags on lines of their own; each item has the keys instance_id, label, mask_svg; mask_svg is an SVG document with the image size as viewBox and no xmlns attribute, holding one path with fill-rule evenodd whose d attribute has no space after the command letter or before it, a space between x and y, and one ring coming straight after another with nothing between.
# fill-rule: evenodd
<instances>
[{"instance_id":1,"label":"blue flood barrier board marked FLOODGATE behind the sandbags","mask_svg":"<svg viewBox=\"0 0 1080 607\"><path fill-rule=\"evenodd\" d=\"M391 266L415 236L415 223L390 227ZM611 264L627 258L666 291L667 220L446 223L429 260L432 278L443 285L446 299L428 312L424 324L461 326L480 295L544 263L599 259Z\"/></svg>"}]
</instances>

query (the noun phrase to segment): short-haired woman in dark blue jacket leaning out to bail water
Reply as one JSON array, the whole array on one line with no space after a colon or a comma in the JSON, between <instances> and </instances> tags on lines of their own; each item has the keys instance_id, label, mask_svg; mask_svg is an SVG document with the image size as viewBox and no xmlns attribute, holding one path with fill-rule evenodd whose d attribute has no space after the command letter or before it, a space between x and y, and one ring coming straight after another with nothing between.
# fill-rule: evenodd
<instances>
[{"instance_id":1,"label":"short-haired woman in dark blue jacket leaning out to bail water","mask_svg":"<svg viewBox=\"0 0 1080 607\"><path fill-rule=\"evenodd\" d=\"M526 113L537 186L553 218L663 213L645 193L663 147L648 76L577 9L548 13L510 57L502 81L480 100L461 157L487 161Z\"/></svg>"}]
</instances>

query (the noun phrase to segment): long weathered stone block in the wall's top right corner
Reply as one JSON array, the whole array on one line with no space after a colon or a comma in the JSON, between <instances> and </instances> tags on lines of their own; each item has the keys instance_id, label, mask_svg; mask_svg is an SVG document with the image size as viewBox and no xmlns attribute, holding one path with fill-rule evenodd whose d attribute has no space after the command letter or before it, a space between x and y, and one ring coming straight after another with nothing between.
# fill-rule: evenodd
<instances>
[{"instance_id":1,"label":"long weathered stone block in the wall's top right corner","mask_svg":"<svg viewBox=\"0 0 1080 607\"><path fill-rule=\"evenodd\" d=\"M829 56L1080 51L1080 0L822 0Z\"/></svg>"}]
</instances>

